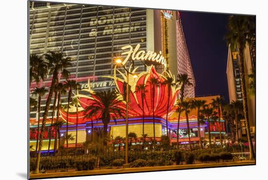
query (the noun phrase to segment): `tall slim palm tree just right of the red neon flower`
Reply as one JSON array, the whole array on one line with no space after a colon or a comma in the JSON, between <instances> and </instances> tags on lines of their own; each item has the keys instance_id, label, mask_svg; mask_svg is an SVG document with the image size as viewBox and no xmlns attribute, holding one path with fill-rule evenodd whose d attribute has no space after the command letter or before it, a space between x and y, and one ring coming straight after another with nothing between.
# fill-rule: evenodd
<instances>
[{"instance_id":1,"label":"tall slim palm tree just right of the red neon flower","mask_svg":"<svg viewBox=\"0 0 268 180\"><path fill-rule=\"evenodd\" d=\"M183 99L184 99L184 90L185 87L187 86L192 86L193 84L191 83L192 79L188 78L187 74L179 74L178 75L178 79L177 82L179 82L181 89L180 89L180 102L178 103L182 103ZM181 110L180 110L181 106L178 107L178 125L177 125L177 148L179 147L179 127L180 127L180 114L181 114Z\"/></svg>"}]
</instances>

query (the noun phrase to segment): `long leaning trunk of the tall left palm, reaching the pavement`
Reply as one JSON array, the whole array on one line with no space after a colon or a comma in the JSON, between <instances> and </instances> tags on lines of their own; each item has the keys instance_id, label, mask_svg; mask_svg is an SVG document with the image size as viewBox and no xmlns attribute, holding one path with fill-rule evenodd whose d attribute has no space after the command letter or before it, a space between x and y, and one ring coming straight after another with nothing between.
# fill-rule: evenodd
<instances>
[{"instance_id":1,"label":"long leaning trunk of the tall left palm, reaching the pavement","mask_svg":"<svg viewBox=\"0 0 268 180\"><path fill-rule=\"evenodd\" d=\"M51 102L51 99L52 99L52 96L53 96L53 93L55 90L55 85L57 83L57 75L58 75L58 71L57 71L57 69L55 69L53 72L53 79L51 82L48 98L46 100L46 106L45 106L45 111L43 114L42 126L41 126L41 131L40 131L40 136L39 136L40 138L39 138L39 145L38 145L38 156L37 156L37 164L36 164L36 170L35 170L36 174L39 173L41 149L42 149L42 145L43 145L43 134L44 134L44 129L45 129L45 125L46 125L46 118L48 115L48 110L50 108L50 102Z\"/></svg>"}]
</instances>

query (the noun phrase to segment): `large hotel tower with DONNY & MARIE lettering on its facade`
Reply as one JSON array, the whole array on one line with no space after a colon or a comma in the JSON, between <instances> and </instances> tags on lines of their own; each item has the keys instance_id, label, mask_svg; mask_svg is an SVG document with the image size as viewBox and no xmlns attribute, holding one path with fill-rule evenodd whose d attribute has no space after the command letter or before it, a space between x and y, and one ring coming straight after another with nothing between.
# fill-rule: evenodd
<instances>
[{"instance_id":1,"label":"large hotel tower with DONNY & MARIE lettering on its facade","mask_svg":"<svg viewBox=\"0 0 268 180\"><path fill-rule=\"evenodd\" d=\"M124 59L127 56L122 55L124 51L121 48L126 45L135 48L139 44L140 51L156 53L161 51L160 54L167 60L167 68L175 79L178 74L188 74L189 78L192 78L193 86L186 87L185 97L194 97L194 76L177 11L169 11L167 18L164 11L144 8L36 1L29 5L30 54L43 55L54 51L62 52L65 57L70 57L72 66L67 68L70 72L69 79L77 80L81 89L86 89L89 85L94 91L114 89L115 81L109 76L114 75L115 59ZM126 66L129 67L129 65L130 63L127 62ZM154 63L153 65L160 74L165 68L161 64ZM149 66L150 64L144 65L139 60L134 61L134 67L137 68L136 73L147 71ZM122 67L116 67L116 69L124 72ZM116 73L116 77L122 78L122 75ZM52 75L38 84L32 82L30 91L35 87L49 87L51 78ZM59 78L61 82L65 80L61 76ZM90 84L88 80L90 80ZM75 93L77 92L75 91ZM79 91L79 94L83 95L83 93L89 95L86 91ZM48 93L42 97L39 123L41 123L47 95ZM67 98L67 95L62 95L61 103L66 104ZM50 123L53 117L53 101L54 98L52 98L47 116L46 132L52 128ZM151 119L148 118L150 122ZM163 119L159 119L159 121L164 122ZM37 108L32 107L30 109L30 128L35 131L37 124ZM88 125L87 123L79 124L77 135L79 143L86 140L89 130L85 131L85 128L90 128ZM152 124L146 126L151 128ZM140 127L140 125L133 126L135 132L139 133ZM159 130L159 137L162 135L163 127L164 125L160 124L156 127ZM62 133L65 131L64 128L66 126L61 129ZM130 126L131 128L132 126ZM124 129L123 126L113 127L111 133L123 133L122 129ZM34 143L35 134L32 133L30 137Z\"/></svg>"}]
</instances>

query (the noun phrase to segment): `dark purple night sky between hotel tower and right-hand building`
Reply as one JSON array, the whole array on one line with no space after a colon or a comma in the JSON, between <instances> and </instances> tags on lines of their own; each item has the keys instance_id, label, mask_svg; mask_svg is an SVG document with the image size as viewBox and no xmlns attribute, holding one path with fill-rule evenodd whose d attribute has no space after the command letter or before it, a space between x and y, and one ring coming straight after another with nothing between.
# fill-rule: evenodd
<instances>
[{"instance_id":1,"label":"dark purple night sky between hotel tower and right-hand building","mask_svg":"<svg viewBox=\"0 0 268 180\"><path fill-rule=\"evenodd\" d=\"M220 94L229 102L228 48L223 39L228 15L180 11L195 78L195 95Z\"/></svg>"}]
</instances>

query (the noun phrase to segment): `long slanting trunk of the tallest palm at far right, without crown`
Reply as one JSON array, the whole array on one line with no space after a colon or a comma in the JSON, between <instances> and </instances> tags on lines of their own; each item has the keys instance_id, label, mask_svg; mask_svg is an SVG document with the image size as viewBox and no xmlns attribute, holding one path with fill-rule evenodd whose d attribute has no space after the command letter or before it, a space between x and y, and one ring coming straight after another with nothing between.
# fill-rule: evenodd
<instances>
[{"instance_id":1,"label":"long slanting trunk of the tallest palm at far right, without crown","mask_svg":"<svg viewBox=\"0 0 268 180\"><path fill-rule=\"evenodd\" d=\"M249 126L249 109L248 109L248 100L247 100L247 90L246 90L246 81L245 81L245 70L244 70L244 49L242 47L242 40L239 43L239 70L241 78L241 89L242 89L242 98L243 98L243 110L245 116L247 138L249 141L249 159L255 159L255 153L253 148L253 143L250 136L250 126Z\"/></svg>"}]
</instances>

